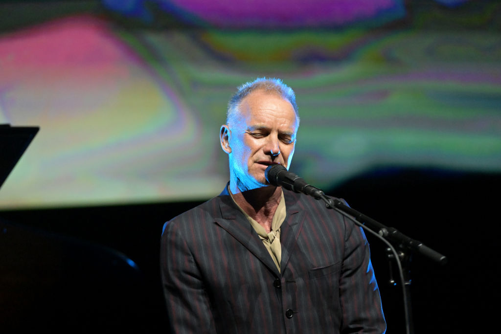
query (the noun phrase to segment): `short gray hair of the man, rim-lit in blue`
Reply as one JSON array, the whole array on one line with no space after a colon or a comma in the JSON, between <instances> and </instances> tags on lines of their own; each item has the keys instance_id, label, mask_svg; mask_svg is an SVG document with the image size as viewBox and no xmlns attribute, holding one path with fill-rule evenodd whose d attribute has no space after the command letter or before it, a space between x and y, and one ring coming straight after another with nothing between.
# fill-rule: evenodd
<instances>
[{"instance_id":1,"label":"short gray hair of the man, rim-lit in blue","mask_svg":"<svg viewBox=\"0 0 501 334\"><path fill-rule=\"evenodd\" d=\"M293 106L294 112L296 113L296 120L299 124L299 113L298 105L296 104L296 94L291 87L287 86L282 82L281 79L277 78L258 78L254 81L246 82L245 84L238 87L237 92L231 97L228 102L228 109L226 112L226 124L229 125L230 119L238 113L238 105L240 102L250 93L263 90L266 93L276 93L282 98L287 99Z\"/></svg>"}]
</instances>

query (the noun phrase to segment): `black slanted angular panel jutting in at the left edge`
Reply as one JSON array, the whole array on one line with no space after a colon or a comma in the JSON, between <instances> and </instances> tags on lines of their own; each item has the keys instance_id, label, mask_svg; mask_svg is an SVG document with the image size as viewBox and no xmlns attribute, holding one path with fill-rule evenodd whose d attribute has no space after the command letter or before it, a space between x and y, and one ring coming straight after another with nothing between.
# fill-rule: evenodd
<instances>
[{"instance_id":1,"label":"black slanted angular panel jutting in at the left edge","mask_svg":"<svg viewBox=\"0 0 501 334\"><path fill-rule=\"evenodd\" d=\"M37 134L39 127L0 124L0 187Z\"/></svg>"}]
</instances>

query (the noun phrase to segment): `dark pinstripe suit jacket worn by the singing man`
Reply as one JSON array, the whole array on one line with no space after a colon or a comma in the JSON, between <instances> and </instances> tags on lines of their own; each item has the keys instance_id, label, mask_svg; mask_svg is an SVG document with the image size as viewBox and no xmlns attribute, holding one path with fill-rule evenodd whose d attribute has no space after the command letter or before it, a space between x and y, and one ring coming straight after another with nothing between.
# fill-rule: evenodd
<instances>
[{"instance_id":1,"label":"dark pinstripe suit jacket worn by the singing man","mask_svg":"<svg viewBox=\"0 0 501 334\"><path fill-rule=\"evenodd\" d=\"M226 190L165 224L161 271L172 332L385 331L362 229L309 196L284 190L284 197L281 273Z\"/></svg>"}]
</instances>

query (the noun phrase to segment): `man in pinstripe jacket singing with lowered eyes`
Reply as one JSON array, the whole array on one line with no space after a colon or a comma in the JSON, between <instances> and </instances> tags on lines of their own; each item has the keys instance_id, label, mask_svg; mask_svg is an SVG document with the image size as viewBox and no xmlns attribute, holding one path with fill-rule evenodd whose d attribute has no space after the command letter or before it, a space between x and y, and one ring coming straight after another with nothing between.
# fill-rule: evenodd
<instances>
[{"instance_id":1,"label":"man in pinstripe jacket singing with lowered eyes","mask_svg":"<svg viewBox=\"0 0 501 334\"><path fill-rule=\"evenodd\" d=\"M299 126L278 79L241 86L220 143L222 193L164 226L162 282L176 333L384 333L361 228L322 201L270 185L289 168Z\"/></svg>"}]
</instances>

